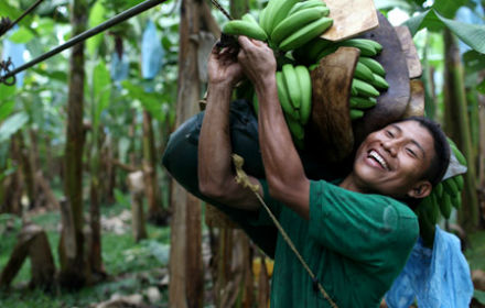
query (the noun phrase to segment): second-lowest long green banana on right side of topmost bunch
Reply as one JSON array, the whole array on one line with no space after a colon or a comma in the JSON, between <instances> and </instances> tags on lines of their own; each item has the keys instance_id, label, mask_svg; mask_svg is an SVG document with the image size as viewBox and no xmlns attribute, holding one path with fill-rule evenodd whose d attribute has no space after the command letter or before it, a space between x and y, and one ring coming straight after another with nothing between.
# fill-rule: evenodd
<instances>
[{"instance_id":1,"label":"second-lowest long green banana on right side of topmost bunch","mask_svg":"<svg viewBox=\"0 0 485 308\"><path fill-rule=\"evenodd\" d=\"M320 19L323 15L321 8L312 8L299 11L283 19L273 30L270 37L274 44L279 44L290 34L300 30L302 26Z\"/></svg>"}]
</instances>

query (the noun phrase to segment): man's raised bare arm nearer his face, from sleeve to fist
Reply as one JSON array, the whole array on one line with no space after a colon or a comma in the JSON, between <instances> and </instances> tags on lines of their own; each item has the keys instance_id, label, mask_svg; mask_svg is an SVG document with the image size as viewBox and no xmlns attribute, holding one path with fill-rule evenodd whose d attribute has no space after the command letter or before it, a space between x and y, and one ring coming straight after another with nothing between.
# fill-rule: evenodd
<instances>
[{"instance_id":1,"label":"man's raised bare arm nearer his face, from sleeve to fist","mask_svg":"<svg viewBox=\"0 0 485 308\"><path fill-rule=\"evenodd\" d=\"M310 180L279 103L273 53L265 43L245 36L239 36L239 63L258 95L259 143L269 193L308 220Z\"/></svg>"}]
</instances>

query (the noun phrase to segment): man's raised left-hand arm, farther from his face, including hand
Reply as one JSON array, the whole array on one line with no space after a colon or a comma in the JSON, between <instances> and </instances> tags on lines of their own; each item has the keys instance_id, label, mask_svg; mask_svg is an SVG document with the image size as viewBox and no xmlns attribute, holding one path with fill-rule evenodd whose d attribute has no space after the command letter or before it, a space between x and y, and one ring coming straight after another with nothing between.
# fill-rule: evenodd
<instances>
[{"instance_id":1,"label":"man's raised left-hand arm, farther from his face, including hand","mask_svg":"<svg viewBox=\"0 0 485 308\"><path fill-rule=\"evenodd\" d=\"M198 140L198 186L202 194L222 204L256 210L254 193L235 180L231 167L229 103L233 88L242 76L235 55L214 47L208 62L207 108ZM252 184L259 184L250 177Z\"/></svg>"}]
</instances>

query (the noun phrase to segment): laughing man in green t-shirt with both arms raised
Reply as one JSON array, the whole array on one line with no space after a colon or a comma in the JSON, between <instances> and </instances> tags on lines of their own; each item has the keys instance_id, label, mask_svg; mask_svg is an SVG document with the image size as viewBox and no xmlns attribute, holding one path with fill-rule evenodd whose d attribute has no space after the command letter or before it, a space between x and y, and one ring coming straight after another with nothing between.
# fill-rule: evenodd
<instances>
[{"instance_id":1,"label":"laughing man in green t-shirt with both arms raised","mask_svg":"<svg viewBox=\"0 0 485 308\"><path fill-rule=\"evenodd\" d=\"M335 185L310 180L278 100L272 51L259 41L238 40L237 57L215 47L208 62L198 140L202 195L254 213L247 220L255 226L272 224L254 193L234 179L229 105L234 86L246 76L258 96L266 174L250 182L260 185L259 194L338 307L378 307L418 238L414 213L397 199L424 198L441 179L449 160L444 136L434 136L418 119L394 123L363 142L348 176ZM251 229L246 224L245 230ZM258 241L265 234L250 235ZM331 307L281 235L276 245L271 306Z\"/></svg>"}]
</instances>

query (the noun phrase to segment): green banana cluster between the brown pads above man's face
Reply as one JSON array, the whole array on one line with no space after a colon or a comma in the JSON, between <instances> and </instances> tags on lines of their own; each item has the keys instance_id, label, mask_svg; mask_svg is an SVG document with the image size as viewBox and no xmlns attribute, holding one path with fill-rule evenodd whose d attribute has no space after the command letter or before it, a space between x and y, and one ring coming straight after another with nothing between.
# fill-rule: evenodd
<instances>
[{"instance_id":1,"label":"green banana cluster between the brown pads above man's face","mask_svg":"<svg viewBox=\"0 0 485 308\"><path fill-rule=\"evenodd\" d=\"M376 97L380 95L379 90L389 88L385 79L386 72L384 67L371 58L381 52L382 46L373 40L366 38L351 38L334 43L317 37L294 50L293 57L298 62L309 64L312 67L323 57L336 52L341 46L356 47L360 51L349 99L351 119L356 120L364 116L366 109L376 106Z\"/></svg>"}]
</instances>

